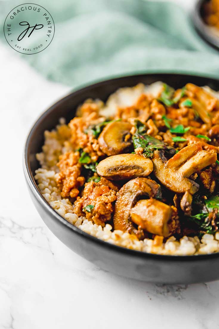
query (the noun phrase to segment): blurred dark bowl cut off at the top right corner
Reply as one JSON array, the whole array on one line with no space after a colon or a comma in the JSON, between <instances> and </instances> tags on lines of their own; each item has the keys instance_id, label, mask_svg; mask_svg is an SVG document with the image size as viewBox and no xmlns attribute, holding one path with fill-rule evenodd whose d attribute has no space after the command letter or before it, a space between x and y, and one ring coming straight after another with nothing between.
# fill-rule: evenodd
<instances>
[{"instance_id":1,"label":"blurred dark bowl cut off at the top right corner","mask_svg":"<svg viewBox=\"0 0 219 329\"><path fill-rule=\"evenodd\" d=\"M209 0L198 0L194 12L193 12L193 22L195 25L196 30L200 34L200 36L205 39L210 45L212 45L214 48L219 50L219 38L214 35L211 28L205 24L203 20L203 4L205 2L208 2Z\"/></svg>"}]
</instances>

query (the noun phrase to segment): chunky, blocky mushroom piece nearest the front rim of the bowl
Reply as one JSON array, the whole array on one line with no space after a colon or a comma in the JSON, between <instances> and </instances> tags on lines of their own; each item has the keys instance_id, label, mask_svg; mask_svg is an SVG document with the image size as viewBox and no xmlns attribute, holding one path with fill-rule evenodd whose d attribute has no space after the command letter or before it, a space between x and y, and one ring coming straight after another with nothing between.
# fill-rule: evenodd
<instances>
[{"instance_id":1,"label":"chunky, blocky mushroom piece nearest the front rim of the bowl","mask_svg":"<svg viewBox=\"0 0 219 329\"><path fill-rule=\"evenodd\" d=\"M172 208L156 199L140 200L130 211L132 221L147 232L168 237Z\"/></svg>"}]
</instances>

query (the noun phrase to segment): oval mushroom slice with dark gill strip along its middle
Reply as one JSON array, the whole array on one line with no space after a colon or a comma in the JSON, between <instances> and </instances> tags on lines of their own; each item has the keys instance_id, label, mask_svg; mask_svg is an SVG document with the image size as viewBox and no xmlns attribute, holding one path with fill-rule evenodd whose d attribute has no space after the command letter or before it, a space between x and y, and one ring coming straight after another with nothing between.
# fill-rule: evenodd
<instances>
[{"instance_id":1,"label":"oval mushroom slice with dark gill strip along its middle","mask_svg":"<svg viewBox=\"0 0 219 329\"><path fill-rule=\"evenodd\" d=\"M152 170L153 163L150 159L128 153L113 155L97 165L98 175L112 180L146 177Z\"/></svg>"}]
</instances>

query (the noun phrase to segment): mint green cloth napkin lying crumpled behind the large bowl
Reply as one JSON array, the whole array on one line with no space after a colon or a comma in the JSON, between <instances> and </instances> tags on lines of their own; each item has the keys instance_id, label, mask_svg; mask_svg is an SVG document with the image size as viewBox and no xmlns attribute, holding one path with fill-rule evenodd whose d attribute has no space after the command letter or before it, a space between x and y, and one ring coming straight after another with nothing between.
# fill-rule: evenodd
<instances>
[{"instance_id":1,"label":"mint green cloth napkin lying crumpled behind the large bowl","mask_svg":"<svg viewBox=\"0 0 219 329\"><path fill-rule=\"evenodd\" d=\"M51 44L34 55L11 51L48 79L76 87L148 70L219 77L219 52L199 37L189 14L176 4L144 0L37 0L37 4L54 19ZM3 24L17 5L17 1L1 3Z\"/></svg>"}]
</instances>

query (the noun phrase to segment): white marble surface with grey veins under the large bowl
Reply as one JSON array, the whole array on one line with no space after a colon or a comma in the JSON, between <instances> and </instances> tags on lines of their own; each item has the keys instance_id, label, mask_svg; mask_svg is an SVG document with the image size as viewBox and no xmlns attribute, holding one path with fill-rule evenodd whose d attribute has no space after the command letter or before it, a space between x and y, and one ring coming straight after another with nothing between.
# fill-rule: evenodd
<instances>
[{"instance_id":1,"label":"white marble surface with grey veins under the large bowl","mask_svg":"<svg viewBox=\"0 0 219 329\"><path fill-rule=\"evenodd\" d=\"M218 327L219 281L154 285L106 273L45 226L22 172L26 135L69 88L0 43L0 329Z\"/></svg>"}]
</instances>

